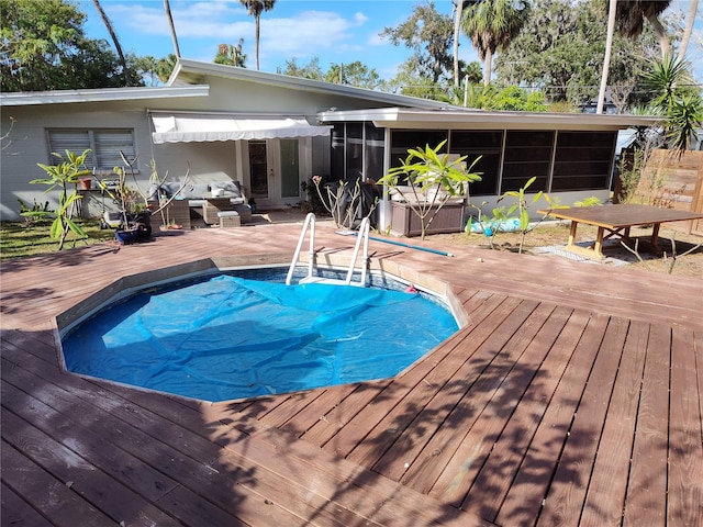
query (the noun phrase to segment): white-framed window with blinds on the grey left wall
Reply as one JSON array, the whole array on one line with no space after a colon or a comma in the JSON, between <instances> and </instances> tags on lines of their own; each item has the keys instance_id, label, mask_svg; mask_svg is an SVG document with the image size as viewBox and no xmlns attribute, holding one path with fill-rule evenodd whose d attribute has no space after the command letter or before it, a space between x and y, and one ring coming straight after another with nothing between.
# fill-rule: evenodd
<instances>
[{"instance_id":1,"label":"white-framed window with blinds on the grey left wall","mask_svg":"<svg viewBox=\"0 0 703 527\"><path fill-rule=\"evenodd\" d=\"M82 154L90 149L86 165L99 171L111 172L114 167L123 167L120 152L127 159L136 157L133 130L49 130L48 146L49 152L62 156L65 150ZM52 156L52 162L58 159Z\"/></svg>"}]
</instances>

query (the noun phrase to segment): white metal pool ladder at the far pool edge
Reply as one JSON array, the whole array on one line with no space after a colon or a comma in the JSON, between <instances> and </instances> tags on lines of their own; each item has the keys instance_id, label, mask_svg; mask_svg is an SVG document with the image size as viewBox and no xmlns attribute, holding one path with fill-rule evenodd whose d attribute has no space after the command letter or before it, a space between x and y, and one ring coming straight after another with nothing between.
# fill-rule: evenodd
<instances>
[{"instance_id":1,"label":"white metal pool ladder at the far pool edge","mask_svg":"<svg viewBox=\"0 0 703 527\"><path fill-rule=\"evenodd\" d=\"M367 265L369 258L369 229L370 223L369 218L365 217L361 220L361 224L359 225L359 232L356 236L356 244L354 245L354 255L352 255L352 261L349 262L349 269L347 270L347 278L345 280L339 280L335 278L321 278L315 277L314 271L316 268L316 255L315 255L315 215L314 213L309 213L305 216L305 223L303 223L303 228L300 233L300 238L298 239L298 246L295 247L295 253L293 254L293 260L290 262L290 268L288 269L288 276L286 277L286 285L290 285L290 282L293 278L293 270L298 265L298 260L300 258L300 251L302 250L303 243L305 242L305 235L308 231L310 231L310 248L308 251L308 276L300 280L300 283L336 283L342 285L358 285L366 287L366 272ZM361 248L361 244L364 244L364 257L361 260L361 279L359 282L352 283L352 277L354 276L354 269L356 268L356 260L359 256L359 249Z\"/></svg>"}]
</instances>

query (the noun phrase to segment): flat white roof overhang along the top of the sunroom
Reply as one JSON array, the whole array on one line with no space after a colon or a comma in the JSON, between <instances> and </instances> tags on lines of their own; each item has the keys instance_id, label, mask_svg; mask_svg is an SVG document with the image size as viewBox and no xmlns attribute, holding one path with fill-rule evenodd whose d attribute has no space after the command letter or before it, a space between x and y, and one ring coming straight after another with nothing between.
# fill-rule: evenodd
<instances>
[{"instance_id":1,"label":"flat white roof overhang along the top of the sunroom","mask_svg":"<svg viewBox=\"0 0 703 527\"><path fill-rule=\"evenodd\" d=\"M487 112L446 106L442 110L382 108L330 111L317 114L322 123L371 121L384 128L406 130L624 130L652 126L659 120L640 115L589 113Z\"/></svg>"}]
</instances>

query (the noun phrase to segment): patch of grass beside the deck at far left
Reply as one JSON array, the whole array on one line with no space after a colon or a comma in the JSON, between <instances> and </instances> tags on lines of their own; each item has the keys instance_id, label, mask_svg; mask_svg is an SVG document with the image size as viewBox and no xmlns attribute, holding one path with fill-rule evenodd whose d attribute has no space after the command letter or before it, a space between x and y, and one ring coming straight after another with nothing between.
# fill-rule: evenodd
<instances>
[{"instance_id":1,"label":"patch of grass beside the deck at far left","mask_svg":"<svg viewBox=\"0 0 703 527\"><path fill-rule=\"evenodd\" d=\"M88 234L88 238L81 239L74 233L69 233L64 249L114 239L114 233L110 229L101 229L96 221L79 220L77 223ZM58 240L49 237L49 226L48 221L37 222L34 225L2 222L0 224L0 260L57 251Z\"/></svg>"}]
</instances>

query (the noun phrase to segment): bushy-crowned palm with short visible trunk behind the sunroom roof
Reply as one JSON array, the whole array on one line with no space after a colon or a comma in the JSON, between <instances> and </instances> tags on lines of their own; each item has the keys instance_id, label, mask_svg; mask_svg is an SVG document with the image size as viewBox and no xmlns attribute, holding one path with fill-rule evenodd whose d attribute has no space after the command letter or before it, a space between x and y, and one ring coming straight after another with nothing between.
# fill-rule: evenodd
<instances>
[{"instance_id":1,"label":"bushy-crowned palm with short visible trunk behind the sunroom roof","mask_svg":"<svg viewBox=\"0 0 703 527\"><path fill-rule=\"evenodd\" d=\"M465 11L462 30L483 60L483 83L491 81L493 54L507 48L527 19L526 0L484 0Z\"/></svg>"}]
</instances>

